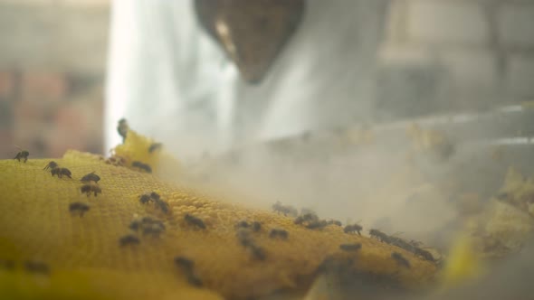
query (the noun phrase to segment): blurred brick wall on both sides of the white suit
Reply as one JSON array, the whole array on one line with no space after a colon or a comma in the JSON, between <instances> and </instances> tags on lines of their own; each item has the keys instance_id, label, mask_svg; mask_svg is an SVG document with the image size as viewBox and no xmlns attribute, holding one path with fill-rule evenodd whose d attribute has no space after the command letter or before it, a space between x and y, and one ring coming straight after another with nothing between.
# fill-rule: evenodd
<instances>
[{"instance_id":1,"label":"blurred brick wall on both sides of the white suit","mask_svg":"<svg viewBox=\"0 0 534 300\"><path fill-rule=\"evenodd\" d=\"M534 97L532 1L394 0L386 20L378 119ZM110 0L0 0L0 31L0 158L104 153Z\"/></svg>"}]
</instances>

